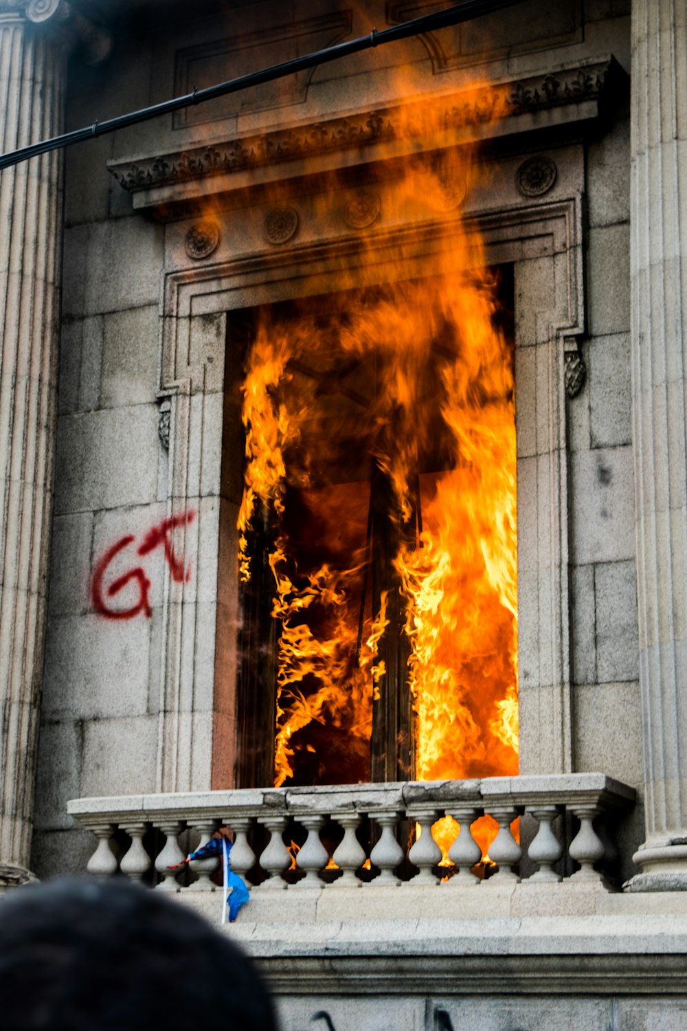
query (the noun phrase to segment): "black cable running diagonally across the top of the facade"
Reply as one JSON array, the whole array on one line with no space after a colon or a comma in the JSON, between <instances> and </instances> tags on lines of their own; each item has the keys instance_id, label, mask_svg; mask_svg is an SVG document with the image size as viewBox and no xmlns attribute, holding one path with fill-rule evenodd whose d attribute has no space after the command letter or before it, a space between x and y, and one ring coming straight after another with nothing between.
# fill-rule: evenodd
<instances>
[{"instance_id":1,"label":"black cable running diagonally across the top of the facade","mask_svg":"<svg viewBox=\"0 0 687 1031\"><path fill-rule=\"evenodd\" d=\"M458 25L460 22L469 22L474 18L481 18L484 14L492 14L504 7L512 7L522 0L465 0L457 6L448 7L446 10L436 11L433 14L423 14L421 18L414 18L410 22L402 25L393 25L390 29L382 29L377 32L373 29L367 36L359 36L357 39L350 39L348 42L337 43L324 51L316 51L314 54L306 54L301 58L294 58L291 61L284 61L281 64L265 68L263 71L250 72L247 75L240 75L238 78L230 79L227 82L218 82L216 86L208 86L204 90L195 89L193 93L186 93L183 97L174 97L172 100L165 100L161 104L153 104L150 107L143 107L138 111L131 111L129 114L119 114L115 119L108 119L105 122L96 120L93 125L83 129L74 129L73 132L63 133L62 136L54 136L53 139L43 140L40 143L32 143L30 146L23 146L18 151L0 156L0 169L9 168L11 165L19 165L22 161L35 158L48 151L57 151L63 146L71 146L73 143L80 143L94 136L104 136L106 133L115 132L127 126L137 125L139 122L147 122L149 119L157 119L161 114L170 111L178 111L192 104L200 104L205 100L214 100L216 97L225 97L229 93L238 93L247 90L251 86L260 86L262 82L271 82L275 78L282 78L305 68L312 68L315 65L327 64L330 61L338 61L340 58L348 57L349 54L357 54L360 51L369 49L371 46L381 46L383 43L391 43L397 39L406 39L409 36L416 36L422 32L432 32L436 29L443 29L450 25Z\"/></svg>"}]
</instances>

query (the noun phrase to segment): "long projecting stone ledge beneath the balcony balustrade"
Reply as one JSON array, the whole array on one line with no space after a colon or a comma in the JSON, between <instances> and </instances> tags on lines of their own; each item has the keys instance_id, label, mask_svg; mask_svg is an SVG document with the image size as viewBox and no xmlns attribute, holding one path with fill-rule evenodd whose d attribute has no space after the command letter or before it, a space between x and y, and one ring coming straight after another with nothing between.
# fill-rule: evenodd
<instances>
[{"instance_id":1,"label":"long projecting stone ledge beneath the balcony balustrade","mask_svg":"<svg viewBox=\"0 0 687 1031\"><path fill-rule=\"evenodd\" d=\"M180 897L218 921L218 893ZM686 994L687 899L676 914L669 895L659 914L611 898L622 913L320 923L293 921L287 906L257 923L251 902L247 919L225 927L279 995Z\"/></svg>"}]
</instances>

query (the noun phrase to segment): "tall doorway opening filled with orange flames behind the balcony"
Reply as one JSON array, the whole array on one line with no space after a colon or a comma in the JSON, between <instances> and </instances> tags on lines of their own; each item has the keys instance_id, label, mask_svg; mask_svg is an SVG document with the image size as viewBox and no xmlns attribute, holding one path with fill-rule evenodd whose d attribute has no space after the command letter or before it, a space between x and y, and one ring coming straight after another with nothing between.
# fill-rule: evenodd
<instances>
[{"instance_id":1,"label":"tall doorway opening filled with orange flames behind the balcony","mask_svg":"<svg viewBox=\"0 0 687 1031\"><path fill-rule=\"evenodd\" d=\"M235 319L240 786L517 772L509 312L506 268Z\"/></svg>"}]
</instances>

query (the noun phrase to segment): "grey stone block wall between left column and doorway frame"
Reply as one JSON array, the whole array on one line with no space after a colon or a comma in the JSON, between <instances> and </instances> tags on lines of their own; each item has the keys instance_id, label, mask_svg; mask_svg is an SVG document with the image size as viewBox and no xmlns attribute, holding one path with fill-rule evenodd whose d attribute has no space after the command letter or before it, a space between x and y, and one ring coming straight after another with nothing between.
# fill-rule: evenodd
<instances>
[{"instance_id":1,"label":"grey stone block wall between left column and doorway frame","mask_svg":"<svg viewBox=\"0 0 687 1031\"><path fill-rule=\"evenodd\" d=\"M71 80L67 129L146 104L149 75L145 41L119 42L105 68L80 70ZM166 514L156 398L164 229L134 214L107 173L117 146L116 136L104 136L66 157L56 502L32 859L39 876L84 868L90 842L69 830L68 798L128 793L156 777L164 555L146 562L149 620L105 620L91 597L103 551L124 535L138 538Z\"/></svg>"}]
</instances>

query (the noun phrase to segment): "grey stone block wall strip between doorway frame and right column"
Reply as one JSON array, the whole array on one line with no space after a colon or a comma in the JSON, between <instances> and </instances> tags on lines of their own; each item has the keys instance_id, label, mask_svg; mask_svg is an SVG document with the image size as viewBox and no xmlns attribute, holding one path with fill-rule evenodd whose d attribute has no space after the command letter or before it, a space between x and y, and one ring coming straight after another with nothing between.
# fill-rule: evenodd
<instances>
[{"instance_id":1,"label":"grey stone block wall strip between doorway frame and right column","mask_svg":"<svg viewBox=\"0 0 687 1031\"><path fill-rule=\"evenodd\" d=\"M627 108L586 160L587 383L570 407L575 762L603 760L640 787Z\"/></svg>"}]
</instances>

